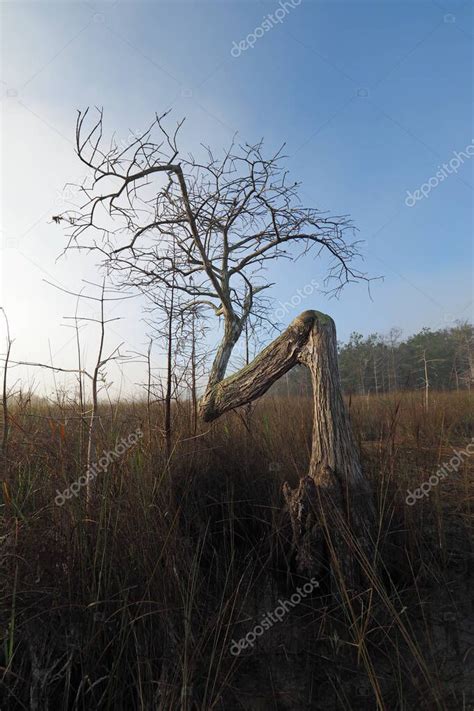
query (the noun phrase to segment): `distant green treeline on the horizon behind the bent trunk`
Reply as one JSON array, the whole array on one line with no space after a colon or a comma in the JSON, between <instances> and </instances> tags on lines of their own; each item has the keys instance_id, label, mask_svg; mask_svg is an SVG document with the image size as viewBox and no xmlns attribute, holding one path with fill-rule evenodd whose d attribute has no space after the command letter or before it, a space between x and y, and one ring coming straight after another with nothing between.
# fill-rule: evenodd
<instances>
[{"instance_id":1,"label":"distant green treeline on the horizon behind the bent trunk","mask_svg":"<svg viewBox=\"0 0 474 711\"><path fill-rule=\"evenodd\" d=\"M339 344L339 370L346 393L383 393L433 388L470 389L474 384L474 329L465 322L452 328L419 333L402 339L393 328L387 335L364 338L352 333ZM295 368L277 383L279 392L301 393L310 387L306 368Z\"/></svg>"}]
</instances>

